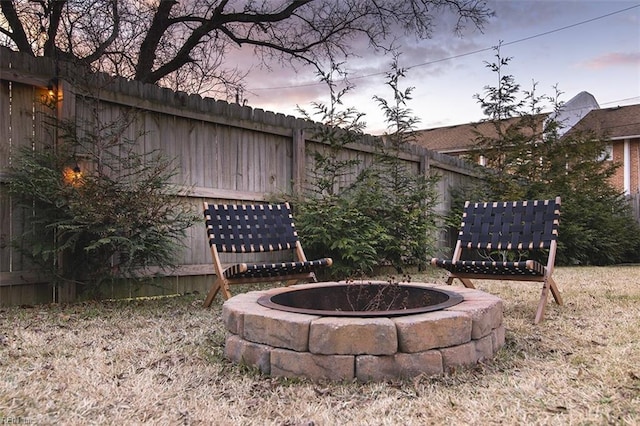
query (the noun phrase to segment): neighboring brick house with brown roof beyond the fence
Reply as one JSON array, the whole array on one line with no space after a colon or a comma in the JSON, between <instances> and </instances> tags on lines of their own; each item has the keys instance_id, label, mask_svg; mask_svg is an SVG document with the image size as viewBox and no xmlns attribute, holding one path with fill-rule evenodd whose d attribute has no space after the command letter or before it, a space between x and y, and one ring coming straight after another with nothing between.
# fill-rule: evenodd
<instances>
[{"instance_id":1,"label":"neighboring brick house with brown roof beyond the fence","mask_svg":"<svg viewBox=\"0 0 640 426\"><path fill-rule=\"evenodd\" d=\"M541 114L540 118L548 116ZM511 118L505 124L517 120ZM609 158L621 165L612 183L627 195L640 192L640 104L600 109L593 95L581 92L565 103L556 120L563 123L564 131L561 134L572 130L590 130L606 138L609 141ZM477 154L478 132L488 137L495 135L490 122L468 123L418 130L414 133L414 143L442 154L464 156L483 164L482 157Z\"/></svg>"}]
</instances>

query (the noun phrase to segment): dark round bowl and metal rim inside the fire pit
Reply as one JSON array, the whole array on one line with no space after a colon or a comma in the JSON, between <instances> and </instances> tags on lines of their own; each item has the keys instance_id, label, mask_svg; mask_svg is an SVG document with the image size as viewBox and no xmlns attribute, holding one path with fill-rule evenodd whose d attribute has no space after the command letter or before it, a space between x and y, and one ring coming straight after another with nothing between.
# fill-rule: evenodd
<instances>
[{"instance_id":1,"label":"dark round bowl and metal rim inside the fire pit","mask_svg":"<svg viewBox=\"0 0 640 426\"><path fill-rule=\"evenodd\" d=\"M452 291L395 283L348 283L283 288L258 303L287 312L337 317L393 317L438 311L462 302Z\"/></svg>"}]
</instances>

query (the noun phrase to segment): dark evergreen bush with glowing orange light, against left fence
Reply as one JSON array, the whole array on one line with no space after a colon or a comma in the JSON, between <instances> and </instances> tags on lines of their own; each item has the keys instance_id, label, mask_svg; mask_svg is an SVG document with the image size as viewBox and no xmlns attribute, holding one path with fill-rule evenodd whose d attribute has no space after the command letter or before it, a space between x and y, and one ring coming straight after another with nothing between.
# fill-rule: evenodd
<instances>
[{"instance_id":1,"label":"dark evergreen bush with glowing orange light, against left fence","mask_svg":"<svg viewBox=\"0 0 640 426\"><path fill-rule=\"evenodd\" d=\"M25 220L14 241L54 285L73 282L88 297L145 268L171 269L195 216L170 191L173 162L139 153L125 137L130 118L102 126L48 124L55 142L23 149L14 160L10 191Z\"/></svg>"}]
</instances>

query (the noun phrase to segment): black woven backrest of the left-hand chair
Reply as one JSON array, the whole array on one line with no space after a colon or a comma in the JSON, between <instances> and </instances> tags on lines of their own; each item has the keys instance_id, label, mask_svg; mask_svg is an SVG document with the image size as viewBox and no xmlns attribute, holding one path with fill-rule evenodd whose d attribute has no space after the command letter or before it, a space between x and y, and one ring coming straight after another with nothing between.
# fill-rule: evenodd
<instances>
[{"instance_id":1,"label":"black woven backrest of the left-hand chair","mask_svg":"<svg viewBox=\"0 0 640 426\"><path fill-rule=\"evenodd\" d=\"M296 248L298 234L289 203L205 205L209 245L221 253L254 253Z\"/></svg>"}]
</instances>

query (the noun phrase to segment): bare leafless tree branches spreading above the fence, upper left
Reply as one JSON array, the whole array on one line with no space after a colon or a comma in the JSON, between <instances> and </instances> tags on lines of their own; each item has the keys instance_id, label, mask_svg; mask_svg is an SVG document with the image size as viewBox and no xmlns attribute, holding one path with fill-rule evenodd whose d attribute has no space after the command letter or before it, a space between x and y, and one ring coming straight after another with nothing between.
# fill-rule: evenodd
<instances>
[{"instance_id":1,"label":"bare leafless tree branches spreading above the fence, upper left","mask_svg":"<svg viewBox=\"0 0 640 426\"><path fill-rule=\"evenodd\" d=\"M358 40L390 50L402 33L429 38L444 15L457 32L492 16L484 0L14 0L0 1L0 12L2 45L172 85L216 76L240 84L241 73L209 60L232 45L321 70L353 55Z\"/></svg>"}]
</instances>

